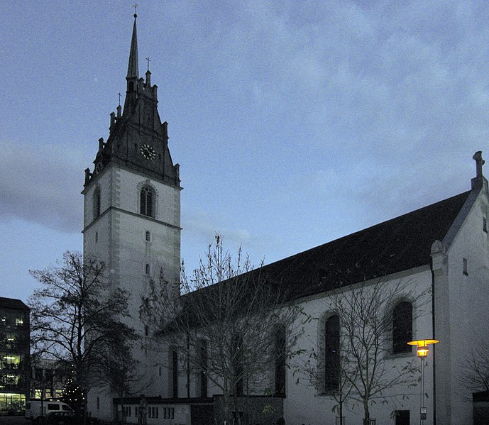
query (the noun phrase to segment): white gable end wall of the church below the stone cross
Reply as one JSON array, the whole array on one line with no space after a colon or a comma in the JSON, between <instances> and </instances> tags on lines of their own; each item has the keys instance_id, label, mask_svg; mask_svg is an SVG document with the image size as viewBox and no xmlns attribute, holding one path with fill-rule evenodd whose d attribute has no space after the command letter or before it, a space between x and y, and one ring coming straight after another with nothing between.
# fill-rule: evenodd
<instances>
[{"instance_id":1,"label":"white gable end wall of the church below the stone cross","mask_svg":"<svg viewBox=\"0 0 489 425\"><path fill-rule=\"evenodd\" d=\"M460 365L480 341L489 341L489 236L483 230L488 218L488 197L482 191L448 250L451 361L449 376L437 391L449 400L451 424L472 423L471 393L461 385Z\"/></svg>"}]
</instances>

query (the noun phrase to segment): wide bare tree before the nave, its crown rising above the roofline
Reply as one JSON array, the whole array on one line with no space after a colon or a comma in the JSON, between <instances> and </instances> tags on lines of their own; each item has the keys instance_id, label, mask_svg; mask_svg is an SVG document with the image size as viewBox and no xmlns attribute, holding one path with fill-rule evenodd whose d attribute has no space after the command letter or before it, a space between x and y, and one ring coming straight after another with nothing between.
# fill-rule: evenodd
<instances>
[{"instance_id":1,"label":"wide bare tree before the nave, its crown rising above the roofline","mask_svg":"<svg viewBox=\"0 0 489 425\"><path fill-rule=\"evenodd\" d=\"M253 390L263 394L272 383L270 371L294 355L300 311L286 303L286 294L261 267L252 270L241 248L233 259L220 235L191 278L182 269L182 296L162 272L143 297L141 318L177 349L187 373L197 372L219 388L223 419L231 420L238 397Z\"/></svg>"}]
</instances>

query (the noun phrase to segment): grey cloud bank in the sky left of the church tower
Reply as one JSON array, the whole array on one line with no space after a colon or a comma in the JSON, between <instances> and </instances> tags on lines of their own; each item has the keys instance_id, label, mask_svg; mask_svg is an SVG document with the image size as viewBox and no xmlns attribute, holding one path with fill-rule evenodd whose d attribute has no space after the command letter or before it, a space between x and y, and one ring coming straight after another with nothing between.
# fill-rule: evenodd
<instances>
[{"instance_id":1,"label":"grey cloud bank in the sky left of the church tower","mask_svg":"<svg viewBox=\"0 0 489 425\"><path fill-rule=\"evenodd\" d=\"M4 143L0 217L16 217L57 231L82 227L83 170L79 156L62 146Z\"/></svg>"}]
</instances>

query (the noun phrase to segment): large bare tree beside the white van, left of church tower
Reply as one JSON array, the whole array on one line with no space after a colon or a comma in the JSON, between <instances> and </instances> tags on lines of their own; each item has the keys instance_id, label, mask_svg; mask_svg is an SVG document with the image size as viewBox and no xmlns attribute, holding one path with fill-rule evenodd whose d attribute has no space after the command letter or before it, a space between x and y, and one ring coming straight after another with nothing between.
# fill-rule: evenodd
<instances>
[{"instance_id":1,"label":"large bare tree beside the white van, left of church tower","mask_svg":"<svg viewBox=\"0 0 489 425\"><path fill-rule=\"evenodd\" d=\"M92 372L103 367L103 354L114 335L120 343L134 335L133 329L121 321L128 316L128 294L109 287L104 270L104 264L94 258L69 251L62 263L31 270L42 285L29 300L33 349L70 368L72 387L82 397L77 414L83 422Z\"/></svg>"}]
</instances>

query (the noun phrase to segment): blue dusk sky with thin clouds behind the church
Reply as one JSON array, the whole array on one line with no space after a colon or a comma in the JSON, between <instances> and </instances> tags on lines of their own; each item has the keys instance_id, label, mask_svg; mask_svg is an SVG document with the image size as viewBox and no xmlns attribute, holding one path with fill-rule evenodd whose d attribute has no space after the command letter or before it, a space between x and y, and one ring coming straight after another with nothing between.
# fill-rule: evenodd
<instances>
[{"instance_id":1,"label":"blue dusk sky with thin clouds behind the church","mask_svg":"<svg viewBox=\"0 0 489 425\"><path fill-rule=\"evenodd\" d=\"M0 296L26 301L29 269L82 248L131 4L2 6ZM485 1L141 0L187 268L216 231L270 263L469 189L489 140L488 16Z\"/></svg>"}]
</instances>

